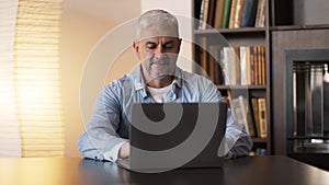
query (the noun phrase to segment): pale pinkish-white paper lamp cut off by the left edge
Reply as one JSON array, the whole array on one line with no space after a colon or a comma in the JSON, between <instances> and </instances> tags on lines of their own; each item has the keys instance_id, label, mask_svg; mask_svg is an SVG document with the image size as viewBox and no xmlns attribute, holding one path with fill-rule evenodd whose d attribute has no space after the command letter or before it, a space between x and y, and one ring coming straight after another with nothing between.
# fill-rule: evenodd
<instances>
[{"instance_id":1,"label":"pale pinkish-white paper lamp cut off by the left edge","mask_svg":"<svg viewBox=\"0 0 329 185\"><path fill-rule=\"evenodd\" d=\"M18 0L0 1L0 157L21 157L14 96L14 33Z\"/></svg>"}]
</instances>

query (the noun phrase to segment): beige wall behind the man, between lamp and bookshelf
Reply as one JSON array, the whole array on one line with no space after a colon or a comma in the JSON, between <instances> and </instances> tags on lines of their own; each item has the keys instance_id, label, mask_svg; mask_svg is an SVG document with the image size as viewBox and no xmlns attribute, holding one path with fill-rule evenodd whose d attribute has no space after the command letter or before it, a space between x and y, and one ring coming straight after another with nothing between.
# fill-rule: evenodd
<instances>
[{"instance_id":1,"label":"beige wall behind the man, between lamp and bookshelf","mask_svg":"<svg viewBox=\"0 0 329 185\"><path fill-rule=\"evenodd\" d=\"M67 157L80 157L77 140L84 131L83 123L88 124L102 86L129 72L138 63L131 45L134 38L127 36L131 31L135 32L135 27L131 31L122 28L141 12L154 8L184 18L180 21L184 42L179 66L191 71L192 49L189 41L192 38L192 23L186 21L192 14L190 0L101 0L97 3L92 0L65 0L60 60ZM111 38L117 32L118 36ZM123 43L115 62L105 63L112 57L110 53ZM109 45L114 47L103 47Z\"/></svg>"}]
</instances>

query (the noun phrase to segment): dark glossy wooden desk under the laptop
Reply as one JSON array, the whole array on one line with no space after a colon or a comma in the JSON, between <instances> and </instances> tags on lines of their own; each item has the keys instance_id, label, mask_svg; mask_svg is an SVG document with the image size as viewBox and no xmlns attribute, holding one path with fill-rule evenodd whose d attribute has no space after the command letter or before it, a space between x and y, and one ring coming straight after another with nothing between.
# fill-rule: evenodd
<instances>
[{"instance_id":1,"label":"dark glossy wooden desk under the laptop","mask_svg":"<svg viewBox=\"0 0 329 185\"><path fill-rule=\"evenodd\" d=\"M329 172L286 157L225 161L222 169L183 169L158 174L128 172L111 162L83 159L0 159L1 185L321 185Z\"/></svg>"}]
</instances>

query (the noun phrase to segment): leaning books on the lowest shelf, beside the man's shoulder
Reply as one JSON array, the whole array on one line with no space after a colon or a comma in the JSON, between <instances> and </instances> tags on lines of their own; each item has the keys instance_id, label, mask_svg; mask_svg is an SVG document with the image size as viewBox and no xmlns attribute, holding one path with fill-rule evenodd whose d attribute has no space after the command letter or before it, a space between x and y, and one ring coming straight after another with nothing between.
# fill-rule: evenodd
<instances>
[{"instance_id":1,"label":"leaning books on the lowest shelf, beside the man's shoulder","mask_svg":"<svg viewBox=\"0 0 329 185\"><path fill-rule=\"evenodd\" d=\"M229 95L230 107L236 120L242 125L251 137L266 138L266 101L265 97L232 97Z\"/></svg>"}]
</instances>

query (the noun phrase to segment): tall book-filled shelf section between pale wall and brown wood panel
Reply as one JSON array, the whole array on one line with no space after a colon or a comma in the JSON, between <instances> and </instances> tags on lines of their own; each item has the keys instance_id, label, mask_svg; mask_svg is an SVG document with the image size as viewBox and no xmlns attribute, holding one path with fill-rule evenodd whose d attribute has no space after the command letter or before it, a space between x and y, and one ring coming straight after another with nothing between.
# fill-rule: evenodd
<instances>
[{"instance_id":1,"label":"tall book-filled shelf section between pale wall and brown wood panel","mask_svg":"<svg viewBox=\"0 0 329 185\"><path fill-rule=\"evenodd\" d=\"M227 10L225 10L226 1L230 1L230 7L227 8ZM251 21L252 23L249 23L248 26L243 26L241 24L241 18L243 16L243 3L247 1L248 3L254 3L252 11L253 21ZM248 132L252 136L253 153L271 154L271 84L269 80L271 73L269 54L271 50L269 24L270 5L268 1L259 1L264 3L261 10L263 11L262 15L257 15L258 11L260 11L258 10L260 8L258 8L257 0L194 0L194 18L207 24L200 21L194 22L193 36L195 45L193 46L193 59L196 62L194 72L207 76L217 85L222 95L229 97L231 108L237 113L236 118L239 119L240 124L245 125ZM223 8L220 8L220 5ZM232 9L232 7L240 12L236 13L235 16L237 18L229 18L225 26L223 25L223 22L225 22L224 12L228 11L229 16L232 16L230 15L231 10L229 10ZM222 16L218 15L218 12L222 13ZM264 19L263 22L256 23L257 19L261 19L257 16L262 16ZM216 23L218 19L222 19L222 24ZM235 23L230 23L232 22L231 20L235 20ZM225 55L225 50L228 50L228 55ZM227 58L225 58L225 56L227 56ZM227 60L227 62L225 62L225 60ZM230 63L231 60L236 60L234 65ZM218 67L213 62L220 65ZM241 65L241 62L243 65ZM250 67L250 62L257 63L259 68L257 68L257 65ZM231 66L235 67L232 68ZM258 70L256 71L254 69ZM216 72L218 70L220 71L219 73ZM231 73L230 71L235 72ZM262 78L254 81L258 77ZM242 96L242 99L239 101L240 96ZM264 112L261 113L265 115L265 117L262 116L262 131L259 130L261 124L259 123L260 120L258 120L261 114L258 112L256 114L256 109L258 109L259 106L256 105L258 108L254 108L252 100L256 102L260 102L259 100L262 101ZM246 114L241 114L241 117L239 113ZM259 151L261 151L261 153L259 153Z\"/></svg>"}]
</instances>

